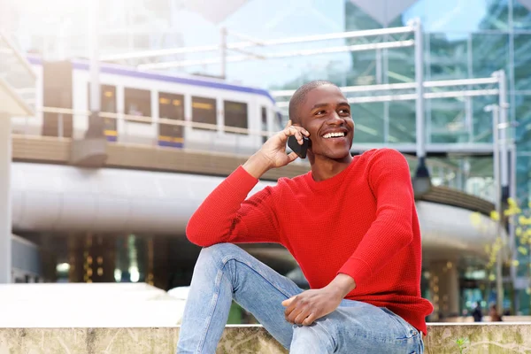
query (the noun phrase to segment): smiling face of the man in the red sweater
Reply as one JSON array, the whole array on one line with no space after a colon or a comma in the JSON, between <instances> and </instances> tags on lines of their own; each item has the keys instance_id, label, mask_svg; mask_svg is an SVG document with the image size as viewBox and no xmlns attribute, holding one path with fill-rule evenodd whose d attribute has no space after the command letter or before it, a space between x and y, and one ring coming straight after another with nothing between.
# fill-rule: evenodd
<instances>
[{"instance_id":1,"label":"smiling face of the man in the red sweater","mask_svg":"<svg viewBox=\"0 0 531 354\"><path fill-rule=\"evenodd\" d=\"M354 122L350 104L340 89L333 85L312 89L298 115L301 126L310 133L313 155L342 159L350 154Z\"/></svg>"}]
</instances>

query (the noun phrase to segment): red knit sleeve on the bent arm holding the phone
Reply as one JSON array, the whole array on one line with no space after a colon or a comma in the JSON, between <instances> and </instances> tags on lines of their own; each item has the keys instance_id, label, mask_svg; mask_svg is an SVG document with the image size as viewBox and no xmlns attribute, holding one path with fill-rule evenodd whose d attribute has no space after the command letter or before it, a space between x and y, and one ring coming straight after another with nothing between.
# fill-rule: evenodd
<instances>
[{"instance_id":1,"label":"red knit sleeve on the bent arm holding the phone","mask_svg":"<svg viewBox=\"0 0 531 354\"><path fill-rule=\"evenodd\" d=\"M189 219L189 241L202 247L221 242L279 242L273 188L266 187L246 199L257 183L239 166Z\"/></svg>"}]
</instances>

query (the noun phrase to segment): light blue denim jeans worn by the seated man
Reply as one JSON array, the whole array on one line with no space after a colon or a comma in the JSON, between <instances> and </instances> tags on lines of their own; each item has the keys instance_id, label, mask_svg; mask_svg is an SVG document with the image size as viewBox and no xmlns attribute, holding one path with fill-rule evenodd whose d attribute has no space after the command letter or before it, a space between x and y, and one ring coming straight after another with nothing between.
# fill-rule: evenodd
<instances>
[{"instance_id":1,"label":"light blue denim jeans worn by the seated man","mask_svg":"<svg viewBox=\"0 0 531 354\"><path fill-rule=\"evenodd\" d=\"M281 302L301 292L238 246L220 243L201 250L182 318L177 353L213 354L233 299L290 353L420 354L422 335L385 308L343 300L312 326L286 321Z\"/></svg>"}]
</instances>

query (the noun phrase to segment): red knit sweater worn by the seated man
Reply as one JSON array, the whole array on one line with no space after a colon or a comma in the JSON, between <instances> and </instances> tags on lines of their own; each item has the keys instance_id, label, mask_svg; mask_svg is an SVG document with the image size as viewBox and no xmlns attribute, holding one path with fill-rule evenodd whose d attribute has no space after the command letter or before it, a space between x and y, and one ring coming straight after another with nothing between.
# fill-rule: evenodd
<instances>
[{"instance_id":1,"label":"red knit sweater worn by the seated man","mask_svg":"<svg viewBox=\"0 0 531 354\"><path fill-rule=\"evenodd\" d=\"M281 178L246 199L257 183L238 167L189 220L190 242L281 243L312 289L349 274L357 286L345 298L387 307L427 333L433 306L420 295L419 220L402 154L369 150L325 181Z\"/></svg>"}]
</instances>

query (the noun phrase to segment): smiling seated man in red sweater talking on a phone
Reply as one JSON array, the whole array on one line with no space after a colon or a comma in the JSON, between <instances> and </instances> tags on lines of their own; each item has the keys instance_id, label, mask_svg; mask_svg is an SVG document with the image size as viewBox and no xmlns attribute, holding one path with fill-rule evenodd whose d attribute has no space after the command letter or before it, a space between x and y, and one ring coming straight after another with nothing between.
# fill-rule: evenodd
<instances>
[{"instance_id":1,"label":"smiling seated man in red sweater talking on a phone","mask_svg":"<svg viewBox=\"0 0 531 354\"><path fill-rule=\"evenodd\" d=\"M350 156L354 123L340 89L312 81L288 124L212 191L189 220L203 246L178 353L214 353L234 299L291 353L421 353L432 305L420 296L421 243L410 170L396 150ZM312 171L246 199L286 142L303 135ZM278 242L312 289L252 258L237 242Z\"/></svg>"}]
</instances>

